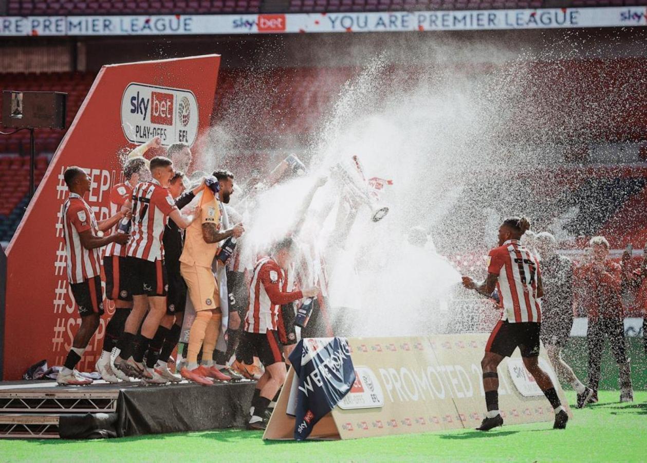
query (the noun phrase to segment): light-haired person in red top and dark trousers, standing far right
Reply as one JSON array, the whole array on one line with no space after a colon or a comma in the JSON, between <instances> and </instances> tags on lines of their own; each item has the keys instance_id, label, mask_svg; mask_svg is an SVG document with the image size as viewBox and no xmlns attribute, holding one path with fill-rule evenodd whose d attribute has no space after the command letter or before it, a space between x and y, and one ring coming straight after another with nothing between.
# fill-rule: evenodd
<instances>
[{"instance_id":1,"label":"light-haired person in red top and dark trousers, standing far right","mask_svg":"<svg viewBox=\"0 0 647 463\"><path fill-rule=\"evenodd\" d=\"M597 401L600 383L600 361L604 339L609 338L611 352L618 364L620 376L620 401L633 401L631 367L624 339L624 310L622 308L622 268L609 259L609 242L604 236L594 236L589 242L593 257L582 267L582 293L587 299L589 350L589 388L593 389L591 401Z\"/></svg>"}]
</instances>

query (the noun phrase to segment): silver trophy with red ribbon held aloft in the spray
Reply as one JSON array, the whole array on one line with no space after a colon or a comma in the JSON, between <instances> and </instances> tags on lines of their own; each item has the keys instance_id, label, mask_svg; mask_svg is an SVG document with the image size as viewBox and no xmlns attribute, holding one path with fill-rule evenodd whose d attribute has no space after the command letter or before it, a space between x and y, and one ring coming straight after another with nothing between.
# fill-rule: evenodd
<instances>
[{"instance_id":1,"label":"silver trophy with red ribbon held aloft in the spray","mask_svg":"<svg viewBox=\"0 0 647 463\"><path fill-rule=\"evenodd\" d=\"M353 203L369 207L371 220L374 222L382 220L388 214L389 208L380 203L377 192L366 181L357 156L353 156L350 165L335 164L331 168L331 178L343 186L345 194Z\"/></svg>"}]
</instances>

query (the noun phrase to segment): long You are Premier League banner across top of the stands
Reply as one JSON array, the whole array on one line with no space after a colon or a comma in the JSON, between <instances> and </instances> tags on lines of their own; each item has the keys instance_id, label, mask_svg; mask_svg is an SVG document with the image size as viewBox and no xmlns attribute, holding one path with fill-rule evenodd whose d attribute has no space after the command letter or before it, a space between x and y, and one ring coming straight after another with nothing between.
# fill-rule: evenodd
<instances>
[{"instance_id":1,"label":"long You are Premier League banner across top of the stands","mask_svg":"<svg viewBox=\"0 0 647 463\"><path fill-rule=\"evenodd\" d=\"M423 32L646 25L645 6L369 13L4 16L0 17L0 36Z\"/></svg>"}]
</instances>

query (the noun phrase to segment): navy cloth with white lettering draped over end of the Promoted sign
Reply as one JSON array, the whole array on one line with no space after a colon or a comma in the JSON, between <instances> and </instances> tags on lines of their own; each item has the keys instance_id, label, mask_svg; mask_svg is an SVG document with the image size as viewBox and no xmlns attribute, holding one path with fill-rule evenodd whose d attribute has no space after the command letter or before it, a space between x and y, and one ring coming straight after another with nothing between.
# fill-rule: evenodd
<instances>
[{"instance_id":1,"label":"navy cloth with white lettering draped over end of the Promoted sign","mask_svg":"<svg viewBox=\"0 0 647 463\"><path fill-rule=\"evenodd\" d=\"M291 399L296 394L294 438L304 440L351 390L355 369L343 337L302 339L290 355L290 363L295 373L291 390Z\"/></svg>"}]
</instances>

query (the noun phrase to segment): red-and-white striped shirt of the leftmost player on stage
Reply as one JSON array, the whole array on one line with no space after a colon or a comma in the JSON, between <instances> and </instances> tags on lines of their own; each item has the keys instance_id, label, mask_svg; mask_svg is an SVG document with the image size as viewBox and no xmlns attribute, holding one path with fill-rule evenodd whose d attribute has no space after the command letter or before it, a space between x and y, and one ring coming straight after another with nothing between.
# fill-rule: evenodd
<instances>
[{"instance_id":1,"label":"red-and-white striped shirt of the leftmost player on stage","mask_svg":"<svg viewBox=\"0 0 647 463\"><path fill-rule=\"evenodd\" d=\"M67 278L70 283L81 283L83 280L100 275L99 248L85 249L79 236L87 230L94 235L99 231L94 212L80 195L70 193L70 197L63 204L63 216L65 217L63 236L67 254Z\"/></svg>"}]
</instances>

